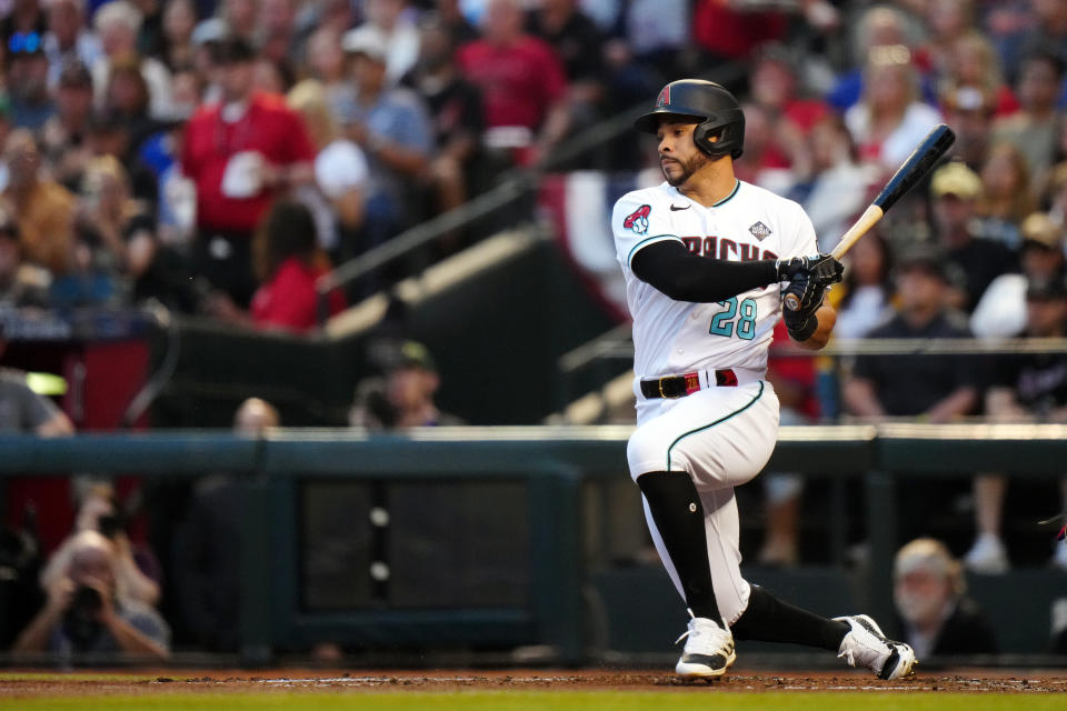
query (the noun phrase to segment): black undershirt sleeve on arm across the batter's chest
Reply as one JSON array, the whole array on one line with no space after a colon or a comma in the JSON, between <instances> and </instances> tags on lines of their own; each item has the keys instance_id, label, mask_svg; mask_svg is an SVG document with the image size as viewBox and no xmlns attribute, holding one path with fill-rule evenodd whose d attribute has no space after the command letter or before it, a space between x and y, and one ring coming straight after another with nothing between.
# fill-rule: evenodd
<instances>
[{"instance_id":1,"label":"black undershirt sleeve on arm across the batter's chest","mask_svg":"<svg viewBox=\"0 0 1067 711\"><path fill-rule=\"evenodd\" d=\"M675 240L655 242L641 249L630 269L675 301L711 303L726 301L751 289L778 281L775 260L730 262L692 254Z\"/></svg>"}]
</instances>

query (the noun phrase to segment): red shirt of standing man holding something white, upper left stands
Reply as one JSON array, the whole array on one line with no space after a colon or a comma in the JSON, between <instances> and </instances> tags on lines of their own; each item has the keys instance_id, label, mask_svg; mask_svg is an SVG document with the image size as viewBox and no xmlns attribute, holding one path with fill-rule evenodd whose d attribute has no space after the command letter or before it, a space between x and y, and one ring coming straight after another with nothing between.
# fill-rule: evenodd
<instances>
[{"instance_id":1,"label":"red shirt of standing man holding something white, upper left stands","mask_svg":"<svg viewBox=\"0 0 1067 711\"><path fill-rule=\"evenodd\" d=\"M260 153L268 166L315 161L315 148L299 114L281 97L255 93L236 121L223 120L223 107L198 111L186 128L182 171L197 186L197 223L201 229L251 232L275 199L269 186L248 198L222 192L230 159L241 152Z\"/></svg>"}]
</instances>

